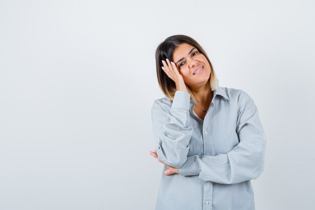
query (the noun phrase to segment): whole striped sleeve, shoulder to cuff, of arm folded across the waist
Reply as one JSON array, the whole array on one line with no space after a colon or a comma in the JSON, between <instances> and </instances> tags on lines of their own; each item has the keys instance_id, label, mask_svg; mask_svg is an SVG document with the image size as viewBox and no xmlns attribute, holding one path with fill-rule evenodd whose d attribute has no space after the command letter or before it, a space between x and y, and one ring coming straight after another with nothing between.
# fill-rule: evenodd
<instances>
[{"instance_id":1,"label":"whole striped sleeve, shoulder to cuff, of arm folded across the waist","mask_svg":"<svg viewBox=\"0 0 315 210\"><path fill-rule=\"evenodd\" d=\"M179 173L199 175L205 181L221 184L240 183L257 179L264 170L266 136L258 116L258 109L247 94L240 106L236 131L240 143L227 154L190 156Z\"/></svg>"}]
</instances>

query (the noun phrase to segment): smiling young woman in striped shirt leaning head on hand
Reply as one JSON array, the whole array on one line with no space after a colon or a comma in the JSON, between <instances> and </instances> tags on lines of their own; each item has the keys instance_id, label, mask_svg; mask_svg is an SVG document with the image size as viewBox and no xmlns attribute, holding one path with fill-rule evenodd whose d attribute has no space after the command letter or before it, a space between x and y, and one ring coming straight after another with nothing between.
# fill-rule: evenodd
<instances>
[{"instance_id":1,"label":"smiling young woman in striped shirt leaning head on hand","mask_svg":"<svg viewBox=\"0 0 315 210\"><path fill-rule=\"evenodd\" d=\"M165 165L156 209L255 209L250 180L264 169L266 137L252 98L218 86L208 56L188 36L167 38L155 59L166 95L151 112L150 154Z\"/></svg>"}]
</instances>

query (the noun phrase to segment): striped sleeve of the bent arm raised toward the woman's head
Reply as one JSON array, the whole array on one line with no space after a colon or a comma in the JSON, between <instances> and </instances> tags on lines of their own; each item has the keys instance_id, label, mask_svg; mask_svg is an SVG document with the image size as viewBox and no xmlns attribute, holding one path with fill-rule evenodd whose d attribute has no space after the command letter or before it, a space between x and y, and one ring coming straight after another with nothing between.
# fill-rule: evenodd
<instances>
[{"instance_id":1,"label":"striped sleeve of the bent arm raised toward the woman's head","mask_svg":"<svg viewBox=\"0 0 315 210\"><path fill-rule=\"evenodd\" d=\"M151 110L157 156L164 163L179 168L187 160L192 127L189 116L190 94L176 91L172 106L165 110L155 100Z\"/></svg>"}]
</instances>

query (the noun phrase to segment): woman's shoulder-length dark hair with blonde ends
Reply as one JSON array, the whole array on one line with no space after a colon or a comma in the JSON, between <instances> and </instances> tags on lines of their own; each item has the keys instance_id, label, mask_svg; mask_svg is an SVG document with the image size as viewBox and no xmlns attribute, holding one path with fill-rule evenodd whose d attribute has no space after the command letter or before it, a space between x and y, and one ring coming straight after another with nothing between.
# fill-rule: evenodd
<instances>
[{"instance_id":1,"label":"woman's shoulder-length dark hair with blonde ends","mask_svg":"<svg viewBox=\"0 0 315 210\"><path fill-rule=\"evenodd\" d=\"M173 101L174 95L176 92L176 84L175 82L167 76L167 74L163 71L162 60L166 60L168 58L170 61L173 61L173 52L174 50L182 43L190 44L191 46L195 47L201 54L203 54L211 67L211 74L210 78L207 82L209 84L211 91L216 90L218 80L213 70L213 66L206 54L206 52L202 49L202 47L196 42L193 38L185 35L174 35L168 37L164 42L162 42L157 48L155 52L155 62L156 62L156 74L157 80L159 81L160 88L162 89L163 93ZM190 93L191 100L197 102L195 95L191 92L189 87L186 85L188 92Z\"/></svg>"}]
</instances>

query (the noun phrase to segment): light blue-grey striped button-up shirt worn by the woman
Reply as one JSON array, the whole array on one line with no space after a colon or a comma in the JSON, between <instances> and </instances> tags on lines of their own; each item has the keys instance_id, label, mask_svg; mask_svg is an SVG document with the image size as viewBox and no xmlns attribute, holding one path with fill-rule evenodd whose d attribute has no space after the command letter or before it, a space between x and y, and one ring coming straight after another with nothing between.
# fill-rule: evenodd
<instances>
[{"instance_id":1,"label":"light blue-grey striped button-up shirt worn by the woman","mask_svg":"<svg viewBox=\"0 0 315 210\"><path fill-rule=\"evenodd\" d=\"M218 86L204 120L193 107L184 91L153 103L157 155L179 169L162 174L156 210L255 209L250 180L264 170L266 137L253 99Z\"/></svg>"}]
</instances>

